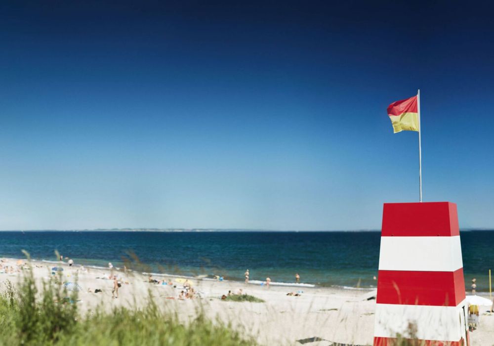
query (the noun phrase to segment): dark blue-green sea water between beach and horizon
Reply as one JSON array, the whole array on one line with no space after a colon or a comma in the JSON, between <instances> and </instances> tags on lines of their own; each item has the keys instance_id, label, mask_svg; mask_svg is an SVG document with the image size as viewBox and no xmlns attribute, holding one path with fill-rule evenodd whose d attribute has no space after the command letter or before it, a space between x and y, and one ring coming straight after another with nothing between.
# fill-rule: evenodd
<instances>
[{"instance_id":1,"label":"dark blue-green sea water between beach and horizon","mask_svg":"<svg viewBox=\"0 0 494 346\"><path fill-rule=\"evenodd\" d=\"M0 232L0 257L56 260L54 251L76 264L122 266L140 271L224 276L244 280L301 282L347 288L375 287L380 232ZM494 271L494 231L461 232L465 287L489 291ZM136 260L138 259L138 261ZM137 265L136 263L140 264ZM494 275L494 273L493 273Z\"/></svg>"}]
</instances>

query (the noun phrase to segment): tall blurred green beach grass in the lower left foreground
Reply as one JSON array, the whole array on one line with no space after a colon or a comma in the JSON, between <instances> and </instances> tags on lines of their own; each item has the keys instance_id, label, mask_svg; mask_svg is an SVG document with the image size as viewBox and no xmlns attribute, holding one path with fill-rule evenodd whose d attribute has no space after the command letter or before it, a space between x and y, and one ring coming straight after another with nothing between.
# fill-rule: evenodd
<instances>
[{"instance_id":1,"label":"tall blurred green beach grass in the lower left foreground","mask_svg":"<svg viewBox=\"0 0 494 346\"><path fill-rule=\"evenodd\" d=\"M151 297L140 309L108 312L100 306L84 316L78 302L59 280L45 282L38 292L27 270L18 287L7 283L0 295L0 345L255 345L201 313L180 323L176 313L163 312Z\"/></svg>"}]
</instances>

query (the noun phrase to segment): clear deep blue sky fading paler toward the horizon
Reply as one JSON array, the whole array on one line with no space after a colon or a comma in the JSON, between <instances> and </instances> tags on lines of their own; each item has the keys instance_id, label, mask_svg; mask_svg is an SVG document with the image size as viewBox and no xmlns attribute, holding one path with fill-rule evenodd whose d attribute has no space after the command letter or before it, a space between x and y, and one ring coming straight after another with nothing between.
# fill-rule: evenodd
<instances>
[{"instance_id":1,"label":"clear deep blue sky fading paler toward the horizon","mask_svg":"<svg viewBox=\"0 0 494 346\"><path fill-rule=\"evenodd\" d=\"M379 229L417 88L424 201L494 227L493 8L134 2L0 3L0 229Z\"/></svg>"}]
</instances>

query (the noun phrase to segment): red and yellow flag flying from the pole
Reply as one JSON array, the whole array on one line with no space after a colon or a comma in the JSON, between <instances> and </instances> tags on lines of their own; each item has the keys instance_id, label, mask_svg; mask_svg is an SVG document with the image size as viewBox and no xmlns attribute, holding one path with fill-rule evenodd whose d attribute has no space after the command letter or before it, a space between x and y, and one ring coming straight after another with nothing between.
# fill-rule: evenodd
<instances>
[{"instance_id":1,"label":"red and yellow flag flying from the pole","mask_svg":"<svg viewBox=\"0 0 494 346\"><path fill-rule=\"evenodd\" d=\"M417 96L396 101L388 106L388 115L394 133L401 131L419 131Z\"/></svg>"}]
</instances>

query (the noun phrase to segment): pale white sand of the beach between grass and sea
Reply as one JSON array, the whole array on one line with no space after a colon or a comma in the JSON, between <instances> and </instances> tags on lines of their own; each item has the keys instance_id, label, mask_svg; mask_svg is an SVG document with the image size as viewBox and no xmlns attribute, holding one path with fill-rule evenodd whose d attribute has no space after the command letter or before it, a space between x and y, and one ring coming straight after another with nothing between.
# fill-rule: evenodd
<instances>
[{"instance_id":1,"label":"pale white sand of the beach between grass and sea","mask_svg":"<svg viewBox=\"0 0 494 346\"><path fill-rule=\"evenodd\" d=\"M4 259L7 265L15 265L17 259ZM58 265L33 261L33 271L37 283L49 279L51 267ZM375 300L367 301L366 290L343 290L334 288L305 288L273 286L267 289L260 285L245 285L239 282L212 281L193 279L193 287L201 293L202 298L194 300L178 300L180 289L167 285L148 283L148 278L142 274L124 275L121 271L115 273L122 277L123 283L119 290L119 298L112 299L113 281L97 279L108 277L110 271L93 269L80 271L78 266L64 268L63 281L74 281L78 275L78 283L82 286L78 302L83 313L98 304L110 310L114 306L134 307L146 303L148 292L161 306L177 311L181 320L189 321L197 315L198 309L203 309L212 319L231 323L242 333L253 336L262 345L302 345L297 340L319 337L323 340L352 345L372 345L374 328ZM9 280L14 285L22 278L21 273L0 273L0 289ZM161 277L155 277L161 279ZM173 281L176 276L166 276ZM102 289L102 293L88 293L87 290ZM220 300L229 290L236 293L243 289L244 293L253 295L266 303L224 302ZM303 291L300 297L287 296L288 292ZM174 298L174 299L170 299ZM487 309L483 308L482 311ZM481 316L480 327L470 333L471 345L494 345L494 314ZM328 342L308 343L306 346L329 345Z\"/></svg>"}]
</instances>

